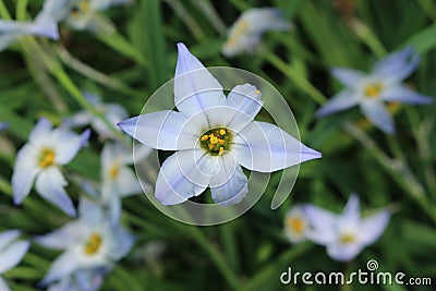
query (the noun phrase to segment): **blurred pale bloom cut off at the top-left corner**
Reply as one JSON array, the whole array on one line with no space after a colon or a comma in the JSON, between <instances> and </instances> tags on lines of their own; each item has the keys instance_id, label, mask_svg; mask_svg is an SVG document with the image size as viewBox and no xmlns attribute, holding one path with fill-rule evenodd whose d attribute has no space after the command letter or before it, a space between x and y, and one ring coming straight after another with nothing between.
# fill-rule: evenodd
<instances>
[{"instance_id":1,"label":"blurred pale bloom cut off at the top-left corner","mask_svg":"<svg viewBox=\"0 0 436 291\"><path fill-rule=\"evenodd\" d=\"M0 51L25 35L38 35L58 39L58 23L65 17L65 5L70 1L47 0L33 22L0 20Z\"/></svg>"}]
</instances>

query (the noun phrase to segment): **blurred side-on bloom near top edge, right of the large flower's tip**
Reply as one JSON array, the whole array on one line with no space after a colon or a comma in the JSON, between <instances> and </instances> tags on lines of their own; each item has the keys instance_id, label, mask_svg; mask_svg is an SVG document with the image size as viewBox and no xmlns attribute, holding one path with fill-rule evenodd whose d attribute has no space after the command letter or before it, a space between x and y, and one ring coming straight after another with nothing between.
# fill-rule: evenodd
<instances>
[{"instance_id":1,"label":"blurred side-on bloom near top edge, right of the large flower's tip","mask_svg":"<svg viewBox=\"0 0 436 291\"><path fill-rule=\"evenodd\" d=\"M228 39L222 46L226 57L242 52L253 52L262 35L268 31L288 31L291 25L282 12L274 8L253 8L242 13L230 28Z\"/></svg>"}]
</instances>

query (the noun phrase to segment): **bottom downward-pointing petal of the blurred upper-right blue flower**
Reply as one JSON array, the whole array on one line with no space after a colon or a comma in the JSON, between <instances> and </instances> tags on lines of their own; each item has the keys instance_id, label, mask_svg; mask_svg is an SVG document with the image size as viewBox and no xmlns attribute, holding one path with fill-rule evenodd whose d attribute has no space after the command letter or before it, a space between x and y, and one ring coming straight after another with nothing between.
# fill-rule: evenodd
<instances>
[{"instance_id":1,"label":"bottom downward-pointing petal of the blurred upper-right blue flower","mask_svg":"<svg viewBox=\"0 0 436 291\"><path fill-rule=\"evenodd\" d=\"M361 101L361 109L375 126L385 133L395 133L393 119L380 100L366 98Z\"/></svg>"}]
</instances>

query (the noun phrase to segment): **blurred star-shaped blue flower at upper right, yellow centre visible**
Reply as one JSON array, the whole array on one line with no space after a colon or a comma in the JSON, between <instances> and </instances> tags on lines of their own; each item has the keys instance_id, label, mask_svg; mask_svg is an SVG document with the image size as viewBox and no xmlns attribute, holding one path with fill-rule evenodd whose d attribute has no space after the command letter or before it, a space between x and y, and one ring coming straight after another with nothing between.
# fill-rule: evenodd
<instances>
[{"instance_id":1,"label":"blurred star-shaped blue flower at upper right, yellow centre visible","mask_svg":"<svg viewBox=\"0 0 436 291\"><path fill-rule=\"evenodd\" d=\"M402 81L416 69L420 57L411 47L377 62L370 74L334 69L332 75L347 86L317 112L318 118L359 105L365 117L386 133L395 132L392 117L385 102L431 104L431 97L408 88Z\"/></svg>"}]
</instances>

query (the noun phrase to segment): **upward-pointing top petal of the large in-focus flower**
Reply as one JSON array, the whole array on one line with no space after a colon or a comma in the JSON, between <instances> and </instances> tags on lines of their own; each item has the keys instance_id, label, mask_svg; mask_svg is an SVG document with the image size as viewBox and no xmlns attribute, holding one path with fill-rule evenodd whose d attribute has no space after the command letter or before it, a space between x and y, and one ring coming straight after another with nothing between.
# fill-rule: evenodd
<instances>
[{"instance_id":1,"label":"upward-pointing top petal of the large in-focus flower","mask_svg":"<svg viewBox=\"0 0 436 291\"><path fill-rule=\"evenodd\" d=\"M222 86L183 45L178 44L174 104L186 117L207 108L226 105Z\"/></svg>"}]
</instances>

